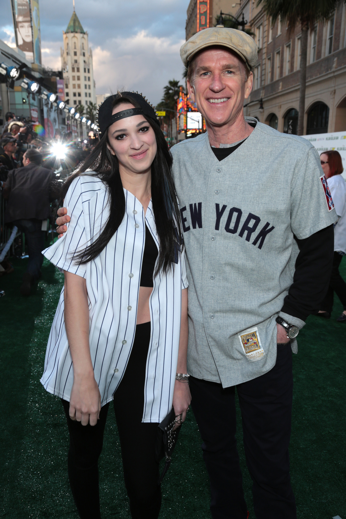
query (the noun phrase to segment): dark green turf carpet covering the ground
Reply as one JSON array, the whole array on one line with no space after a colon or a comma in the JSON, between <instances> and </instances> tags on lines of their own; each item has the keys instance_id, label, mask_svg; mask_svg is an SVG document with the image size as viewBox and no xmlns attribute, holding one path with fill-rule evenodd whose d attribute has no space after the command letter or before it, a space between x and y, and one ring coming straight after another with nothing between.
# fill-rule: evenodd
<instances>
[{"instance_id":1,"label":"dark green turf carpet covering the ground","mask_svg":"<svg viewBox=\"0 0 346 519\"><path fill-rule=\"evenodd\" d=\"M67 481L67 430L62 406L39 382L63 277L46 260L29 298L19 294L26 260L0 278L0 516L77 518ZM346 279L346 258L342 262ZM332 319L311 316L294 356L290 460L298 518L346 519L346 324L336 298ZM111 411L111 410L110 410ZM238 408L238 446L245 498L254 518ZM192 413L179 435L162 484L160 518L210 519L209 484ZM141 453L138 453L140 456ZM129 518L114 414L108 413L100 458L102 517ZM279 519L279 518L278 518Z\"/></svg>"}]
</instances>

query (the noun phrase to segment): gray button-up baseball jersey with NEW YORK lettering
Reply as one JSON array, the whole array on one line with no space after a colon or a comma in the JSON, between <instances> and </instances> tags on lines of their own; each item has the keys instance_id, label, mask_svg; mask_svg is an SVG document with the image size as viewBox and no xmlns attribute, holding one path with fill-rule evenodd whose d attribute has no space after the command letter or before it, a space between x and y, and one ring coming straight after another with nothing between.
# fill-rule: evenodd
<instances>
[{"instance_id":1,"label":"gray button-up baseball jersey with NEW YORK lettering","mask_svg":"<svg viewBox=\"0 0 346 519\"><path fill-rule=\"evenodd\" d=\"M303 239L337 220L309 141L254 131L222 161L207 134L172 148L189 281L188 371L233 386L276 361L278 315ZM296 341L292 344L297 351Z\"/></svg>"}]
</instances>

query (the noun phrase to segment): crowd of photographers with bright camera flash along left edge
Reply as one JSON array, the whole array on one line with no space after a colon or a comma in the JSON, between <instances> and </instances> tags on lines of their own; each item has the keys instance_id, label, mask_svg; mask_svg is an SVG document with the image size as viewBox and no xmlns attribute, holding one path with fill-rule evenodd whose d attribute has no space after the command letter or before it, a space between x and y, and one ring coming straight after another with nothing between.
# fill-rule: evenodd
<instances>
[{"instance_id":1,"label":"crowd of photographers with bright camera flash along left edge","mask_svg":"<svg viewBox=\"0 0 346 519\"><path fill-rule=\"evenodd\" d=\"M30 295L33 283L40 277L47 220L53 223L63 177L87 157L98 136L91 131L88 139L73 140L71 132L56 129L53 138L47 138L34 131L33 122L12 112L5 119L0 138L0 187L2 200L7 200L7 204L0 225L14 231L0 251L0 276L14 271L8 251L15 241L19 254L22 253L23 233L29 262L20 292Z\"/></svg>"}]
</instances>

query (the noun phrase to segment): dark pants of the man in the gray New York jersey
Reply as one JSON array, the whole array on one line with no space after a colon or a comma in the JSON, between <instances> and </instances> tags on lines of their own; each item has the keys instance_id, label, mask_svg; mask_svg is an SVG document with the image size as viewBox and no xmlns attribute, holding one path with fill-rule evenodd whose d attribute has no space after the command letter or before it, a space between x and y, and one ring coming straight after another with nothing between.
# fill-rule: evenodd
<instances>
[{"instance_id":1,"label":"dark pants of the man in the gray New York jersey","mask_svg":"<svg viewBox=\"0 0 346 519\"><path fill-rule=\"evenodd\" d=\"M213 519L246 519L247 507L236 445L235 388L190 377L191 405L203 440ZM246 465L257 519L294 519L288 444L293 398L290 344L278 346L265 375L237 386Z\"/></svg>"}]
</instances>

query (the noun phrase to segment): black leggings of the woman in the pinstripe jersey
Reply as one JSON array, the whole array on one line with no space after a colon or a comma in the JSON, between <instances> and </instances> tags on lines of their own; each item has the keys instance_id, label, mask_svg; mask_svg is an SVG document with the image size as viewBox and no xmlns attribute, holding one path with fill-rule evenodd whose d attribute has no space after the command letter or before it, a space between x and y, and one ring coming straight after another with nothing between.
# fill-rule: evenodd
<instances>
[{"instance_id":1,"label":"black leggings of the woman in the pinstripe jersey","mask_svg":"<svg viewBox=\"0 0 346 519\"><path fill-rule=\"evenodd\" d=\"M161 507L159 465L154 455L158 424L142 424L149 340L150 323L138 324L126 371L113 395L124 480L134 519L156 519ZM93 427L71 420L70 403L62 400L62 404L70 433L68 479L77 510L81 519L99 519L98 459L109 404L101 408L100 419Z\"/></svg>"}]
</instances>

